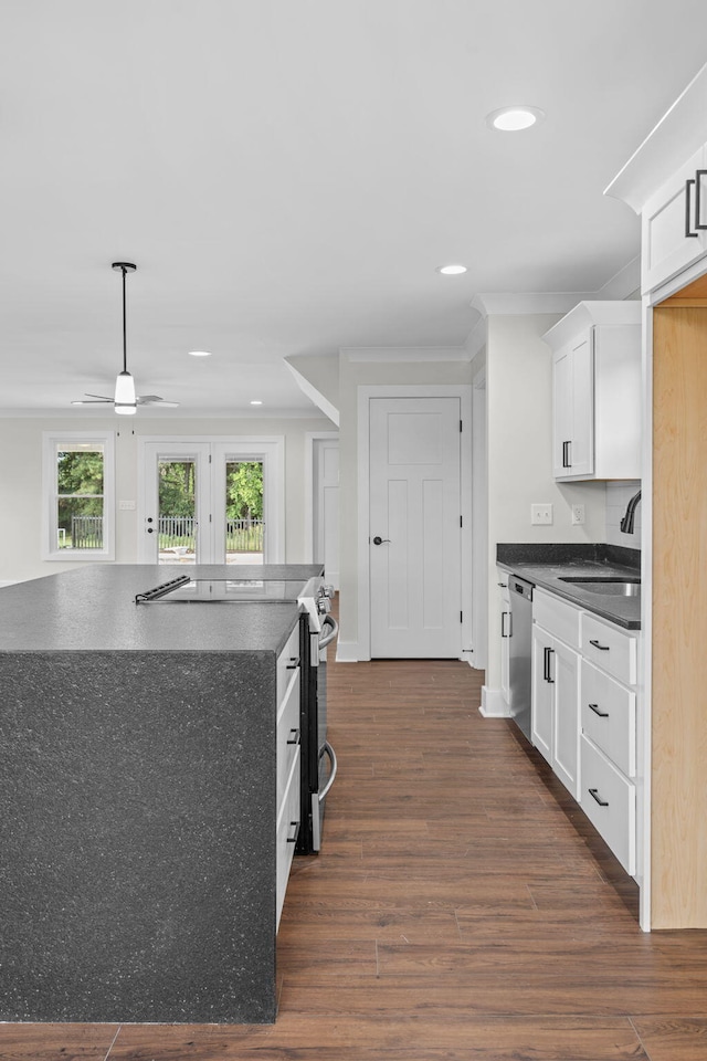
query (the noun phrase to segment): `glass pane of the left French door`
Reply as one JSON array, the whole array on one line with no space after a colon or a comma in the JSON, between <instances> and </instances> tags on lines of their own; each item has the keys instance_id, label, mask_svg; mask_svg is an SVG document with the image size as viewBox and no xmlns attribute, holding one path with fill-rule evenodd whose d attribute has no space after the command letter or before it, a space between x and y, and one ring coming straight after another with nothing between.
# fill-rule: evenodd
<instances>
[{"instance_id":1,"label":"glass pane of the left French door","mask_svg":"<svg viewBox=\"0 0 707 1061\"><path fill-rule=\"evenodd\" d=\"M197 462L193 458L159 460L158 563L197 563Z\"/></svg>"}]
</instances>

